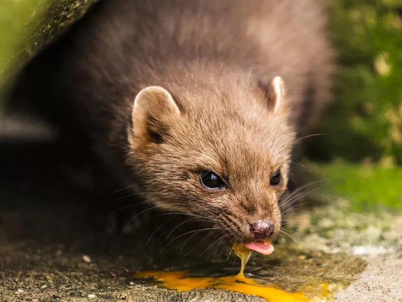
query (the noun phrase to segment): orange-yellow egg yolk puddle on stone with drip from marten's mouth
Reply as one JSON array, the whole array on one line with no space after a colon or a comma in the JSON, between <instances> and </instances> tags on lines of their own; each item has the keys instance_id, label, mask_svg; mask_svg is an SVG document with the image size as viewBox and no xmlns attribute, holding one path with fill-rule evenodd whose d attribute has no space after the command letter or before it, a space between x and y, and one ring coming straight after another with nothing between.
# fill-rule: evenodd
<instances>
[{"instance_id":1,"label":"orange-yellow egg yolk puddle on stone with drip from marten's mouth","mask_svg":"<svg viewBox=\"0 0 402 302\"><path fill-rule=\"evenodd\" d=\"M251 251L245 246L235 246L234 251L241 258L242 266L239 274L230 277L189 277L184 271L144 271L135 276L137 278L154 277L155 281L162 282L162 286L178 291L185 291L194 288L218 287L254 294L265 298L269 302L309 302L302 292L289 293L275 285L264 285L252 278L244 276L244 267L250 258ZM324 292L323 292L324 293Z\"/></svg>"}]
</instances>

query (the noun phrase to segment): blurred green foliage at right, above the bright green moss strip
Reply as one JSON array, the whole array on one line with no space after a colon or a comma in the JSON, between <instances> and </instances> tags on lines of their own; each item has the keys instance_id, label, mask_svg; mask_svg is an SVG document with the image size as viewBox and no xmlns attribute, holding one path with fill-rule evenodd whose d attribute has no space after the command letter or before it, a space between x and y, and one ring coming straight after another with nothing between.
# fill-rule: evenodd
<instances>
[{"instance_id":1,"label":"blurred green foliage at right, above the bright green moss strip","mask_svg":"<svg viewBox=\"0 0 402 302\"><path fill-rule=\"evenodd\" d=\"M402 163L402 1L329 0L335 103L314 142L321 159Z\"/></svg>"}]
</instances>

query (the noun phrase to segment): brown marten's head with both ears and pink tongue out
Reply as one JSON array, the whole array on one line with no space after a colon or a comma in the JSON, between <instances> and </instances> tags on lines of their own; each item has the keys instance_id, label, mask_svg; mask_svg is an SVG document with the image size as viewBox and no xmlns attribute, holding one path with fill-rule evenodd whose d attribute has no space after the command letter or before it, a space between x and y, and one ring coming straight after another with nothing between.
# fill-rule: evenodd
<instances>
[{"instance_id":1,"label":"brown marten's head with both ears and pink tongue out","mask_svg":"<svg viewBox=\"0 0 402 302\"><path fill-rule=\"evenodd\" d=\"M209 223L225 239L269 253L295 134L281 78L191 88L151 86L134 101L128 164L137 189L165 209Z\"/></svg>"}]
</instances>

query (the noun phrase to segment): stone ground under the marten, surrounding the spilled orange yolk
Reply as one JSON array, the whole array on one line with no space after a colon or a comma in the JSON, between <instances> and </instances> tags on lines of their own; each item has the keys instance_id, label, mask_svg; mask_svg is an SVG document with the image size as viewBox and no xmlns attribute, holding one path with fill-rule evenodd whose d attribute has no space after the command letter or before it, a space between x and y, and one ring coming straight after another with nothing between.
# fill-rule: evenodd
<instances>
[{"instance_id":1,"label":"stone ground under the marten, surrounding the spilled orange yolk","mask_svg":"<svg viewBox=\"0 0 402 302\"><path fill-rule=\"evenodd\" d=\"M144 269L236 274L239 260L215 247L209 258L208 253L198 258L204 247L182 257L180 241L159 257L155 252L166 242L155 236L145 245L150 224L119 242L88 215L88 200L96 197L61 173L64 150L26 136L10 140L5 133L18 137L21 127L5 119L1 125L0 301L263 300L222 289L177 292L136 280L134 273ZM346 207L347 201L338 200L316 215L298 215L300 226L287 228L298 246L283 238L285 244L275 245L271 256L253 256L246 273L288 290L327 281L328 300L336 294L337 301L402 301L402 218L387 212L346 214L340 210Z\"/></svg>"}]
</instances>

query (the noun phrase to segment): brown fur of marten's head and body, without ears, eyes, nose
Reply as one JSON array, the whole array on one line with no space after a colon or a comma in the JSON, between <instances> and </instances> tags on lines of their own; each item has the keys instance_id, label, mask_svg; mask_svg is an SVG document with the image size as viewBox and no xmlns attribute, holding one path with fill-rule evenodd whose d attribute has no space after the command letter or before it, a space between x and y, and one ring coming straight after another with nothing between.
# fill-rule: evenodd
<instances>
[{"instance_id":1,"label":"brown fur of marten's head and body, without ears, eyes, nose","mask_svg":"<svg viewBox=\"0 0 402 302\"><path fill-rule=\"evenodd\" d=\"M319 0L103 0L33 61L15 97L40 102L153 204L246 242L258 219L273 220L277 234L295 135L309 133L330 100L325 22ZM289 97L273 113L276 75ZM147 122L161 141L130 143L134 99L149 86L166 89L180 115L162 110ZM277 169L284 181L273 188ZM203 170L228 188L202 187Z\"/></svg>"}]
</instances>

